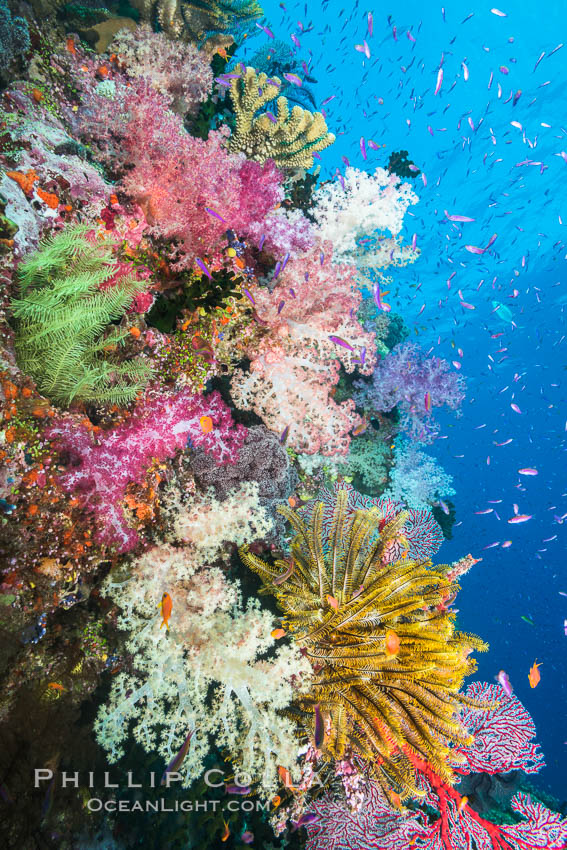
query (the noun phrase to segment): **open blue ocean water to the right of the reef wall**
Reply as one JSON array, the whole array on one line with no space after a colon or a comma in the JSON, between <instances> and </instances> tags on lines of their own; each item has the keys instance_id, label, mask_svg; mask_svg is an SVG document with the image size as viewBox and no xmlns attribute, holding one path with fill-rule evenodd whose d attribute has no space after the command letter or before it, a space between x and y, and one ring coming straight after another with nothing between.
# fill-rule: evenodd
<instances>
[{"instance_id":1,"label":"open blue ocean water to the right of the reef wall","mask_svg":"<svg viewBox=\"0 0 567 850\"><path fill-rule=\"evenodd\" d=\"M467 378L463 415L441 419L431 449L457 491L454 536L439 557L483 559L463 580L459 626L490 643L478 678L508 673L546 756L535 782L564 800L565 6L268 0L264 9L270 32L317 81L318 107L334 96L323 108L337 140L322 154L322 176L336 179L343 157L373 171L400 149L422 171L403 233L406 242L416 235L421 256L394 270L388 301L423 348L462 363ZM273 43L254 35L244 58ZM365 40L370 58L355 48ZM385 147L374 151L368 139ZM537 476L518 474L526 467ZM509 524L516 510L531 519Z\"/></svg>"}]
</instances>

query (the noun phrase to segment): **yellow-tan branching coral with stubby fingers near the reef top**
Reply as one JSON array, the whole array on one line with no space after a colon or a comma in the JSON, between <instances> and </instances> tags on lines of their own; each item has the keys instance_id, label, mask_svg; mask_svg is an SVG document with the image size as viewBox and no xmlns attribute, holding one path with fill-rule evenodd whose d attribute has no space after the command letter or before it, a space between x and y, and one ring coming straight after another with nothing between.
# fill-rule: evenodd
<instances>
[{"instance_id":1,"label":"yellow-tan branching coral with stubby fingers near the reef top","mask_svg":"<svg viewBox=\"0 0 567 850\"><path fill-rule=\"evenodd\" d=\"M254 68L246 68L243 76L231 80L236 130L229 149L257 162L273 159L280 168L311 168L313 154L329 147L335 137L320 112L312 113L301 106L290 111L285 97L278 97L275 114L266 111L256 115L277 97L280 86L278 77L257 74Z\"/></svg>"}]
</instances>

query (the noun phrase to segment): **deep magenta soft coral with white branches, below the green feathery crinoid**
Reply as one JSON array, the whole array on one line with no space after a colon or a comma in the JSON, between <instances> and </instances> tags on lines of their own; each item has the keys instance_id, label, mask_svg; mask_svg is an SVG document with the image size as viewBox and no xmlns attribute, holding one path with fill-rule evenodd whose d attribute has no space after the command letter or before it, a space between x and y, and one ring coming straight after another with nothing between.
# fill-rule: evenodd
<instances>
[{"instance_id":1,"label":"deep magenta soft coral with white branches, below the green feathery crinoid","mask_svg":"<svg viewBox=\"0 0 567 850\"><path fill-rule=\"evenodd\" d=\"M208 433L201 424L203 416L213 422ZM122 507L128 485L143 480L154 458L173 457L188 442L212 455L219 465L233 463L246 428L234 425L217 392L197 396L183 390L170 395L150 389L128 419L99 432L96 439L92 429L72 418L54 422L45 435L65 464L59 484L84 510L95 514L95 540L128 552L139 541Z\"/></svg>"}]
</instances>

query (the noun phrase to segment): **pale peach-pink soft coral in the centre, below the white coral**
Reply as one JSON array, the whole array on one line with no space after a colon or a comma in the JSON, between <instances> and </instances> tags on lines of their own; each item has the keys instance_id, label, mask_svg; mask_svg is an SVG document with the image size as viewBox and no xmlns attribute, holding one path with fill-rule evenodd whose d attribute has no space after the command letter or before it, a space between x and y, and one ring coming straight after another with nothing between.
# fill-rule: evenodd
<instances>
[{"instance_id":1,"label":"pale peach-pink soft coral in the centre, below the white coral","mask_svg":"<svg viewBox=\"0 0 567 850\"><path fill-rule=\"evenodd\" d=\"M333 265L331 255L327 244L290 260L271 293L250 287L266 335L247 352L250 372L236 370L231 384L237 407L254 410L276 433L289 426L288 444L305 454L347 453L360 417L332 390L341 363L371 374L376 356L372 334L356 320L356 269Z\"/></svg>"}]
</instances>

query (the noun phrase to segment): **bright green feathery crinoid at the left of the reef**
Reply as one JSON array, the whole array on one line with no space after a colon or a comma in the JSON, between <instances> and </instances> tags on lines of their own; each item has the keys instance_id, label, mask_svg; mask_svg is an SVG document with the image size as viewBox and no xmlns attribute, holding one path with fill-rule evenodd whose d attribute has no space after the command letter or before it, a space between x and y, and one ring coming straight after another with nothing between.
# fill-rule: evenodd
<instances>
[{"instance_id":1,"label":"bright green feathery crinoid at the left of the reef","mask_svg":"<svg viewBox=\"0 0 567 850\"><path fill-rule=\"evenodd\" d=\"M18 365L53 402L125 404L145 386L151 367L124 357L121 319L145 281L117 275L111 243L73 227L42 243L19 268L11 302ZM111 281L107 289L101 289Z\"/></svg>"}]
</instances>

